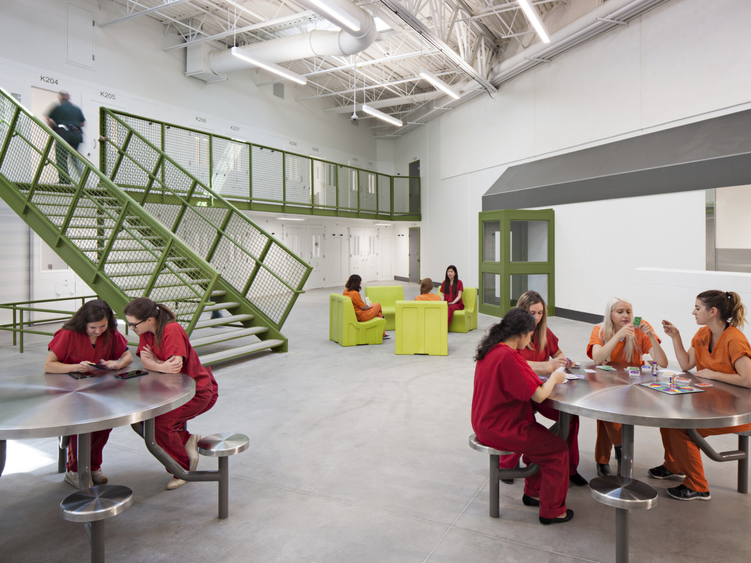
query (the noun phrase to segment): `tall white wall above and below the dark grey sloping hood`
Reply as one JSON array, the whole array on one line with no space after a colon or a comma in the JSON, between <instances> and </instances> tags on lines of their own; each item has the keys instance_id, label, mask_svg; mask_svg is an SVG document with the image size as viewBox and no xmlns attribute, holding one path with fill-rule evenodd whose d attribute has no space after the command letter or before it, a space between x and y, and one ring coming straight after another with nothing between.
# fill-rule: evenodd
<instances>
[{"instance_id":1,"label":"tall white wall above and below the dark grey sloping hood","mask_svg":"<svg viewBox=\"0 0 751 563\"><path fill-rule=\"evenodd\" d=\"M749 27L749 2L707 10L704 0L671 0L396 140L397 172L412 155L430 159L423 267L440 270L458 255L463 280L477 283L481 196L508 166L751 107ZM610 294L632 288L634 267L704 268L703 191L555 209L556 305L566 309L600 313ZM654 239L636 233L614 250L588 251L602 250L614 220ZM593 268L608 272L605 288L584 283Z\"/></svg>"}]
</instances>

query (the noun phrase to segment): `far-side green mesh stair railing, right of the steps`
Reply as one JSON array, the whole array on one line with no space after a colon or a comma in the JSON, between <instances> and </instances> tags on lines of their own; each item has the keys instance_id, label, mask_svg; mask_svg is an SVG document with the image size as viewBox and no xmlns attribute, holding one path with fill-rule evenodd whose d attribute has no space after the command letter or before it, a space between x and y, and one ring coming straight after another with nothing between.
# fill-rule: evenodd
<instances>
[{"instance_id":1,"label":"far-side green mesh stair railing, right of the steps","mask_svg":"<svg viewBox=\"0 0 751 563\"><path fill-rule=\"evenodd\" d=\"M281 327L312 267L209 188L200 171L192 175L159 149L146 136L145 123L102 108L102 170L131 193L134 185L142 186L135 194L140 203L214 266L273 327ZM155 203L153 194L168 194L177 203ZM199 196L211 197L212 206L196 205Z\"/></svg>"}]
</instances>

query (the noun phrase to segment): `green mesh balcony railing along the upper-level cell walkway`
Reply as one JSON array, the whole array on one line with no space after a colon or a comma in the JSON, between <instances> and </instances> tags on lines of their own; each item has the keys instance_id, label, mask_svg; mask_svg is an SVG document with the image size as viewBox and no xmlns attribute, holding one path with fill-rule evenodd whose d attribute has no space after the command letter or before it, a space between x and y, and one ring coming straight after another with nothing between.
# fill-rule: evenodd
<instances>
[{"instance_id":1,"label":"green mesh balcony railing along the upper-level cell walkway","mask_svg":"<svg viewBox=\"0 0 751 563\"><path fill-rule=\"evenodd\" d=\"M417 176L389 176L102 107L101 134L120 148L131 140L125 131L117 131L118 122L137 131L141 140L158 147L208 188L173 189L207 198L209 203L220 196L238 206L237 200L246 200L248 209L259 211L420 220ZM108 172L122 167L108 143L101 146L100 164ZM125 189L152 188L147 172L122 167L116 183Z\"/></svg>"}]
</instances>

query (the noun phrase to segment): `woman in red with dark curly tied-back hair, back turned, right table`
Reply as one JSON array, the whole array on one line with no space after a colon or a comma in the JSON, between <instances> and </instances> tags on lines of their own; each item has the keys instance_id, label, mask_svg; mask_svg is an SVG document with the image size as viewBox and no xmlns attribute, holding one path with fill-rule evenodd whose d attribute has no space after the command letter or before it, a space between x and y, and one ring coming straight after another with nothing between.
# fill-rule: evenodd
<instances>
[{"instance_id":1,"label":"woman in red with dark curly tied-back hair, back turned, right table","mask_svg":"<svg viewBox=\"0 0 751 563\"><path fill-rule=\"evenodd\" d=\"M529 312L511 309L481 340L475 355L472 429L483 444L521 453L526 465L539 465L540 471L524 482L523 504L540 507L542 524L568 522L574 517L566 508L569 447L535 420L532 408L566 375L553 372L543 383L519 354L534 330Z\"/></svg>"}]
</instances>

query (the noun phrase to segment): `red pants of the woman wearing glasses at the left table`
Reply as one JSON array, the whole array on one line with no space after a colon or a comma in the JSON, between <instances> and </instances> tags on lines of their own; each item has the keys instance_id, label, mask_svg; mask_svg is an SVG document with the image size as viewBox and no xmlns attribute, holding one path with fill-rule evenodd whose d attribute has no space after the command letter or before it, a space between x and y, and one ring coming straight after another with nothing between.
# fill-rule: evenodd
<instances>
[{"instance_id":1,"label":"red pants of the woman wearing glasses at the left table","mask_svg":"<svg viewBox=\"0 0 751 563\"><path fill-rule=\"evenodd\" d=\"M185 423L212 408L218 396L216 386L197 391L185 405L156 417L154 427L156 443L169 453L172 459L182 465L182 468L190 468L188 452L185 451L185 443L190 438L190 433L185 429ZM167 473L169 472L170 470L167 469Z\"/></svg>"}]
</instances>

